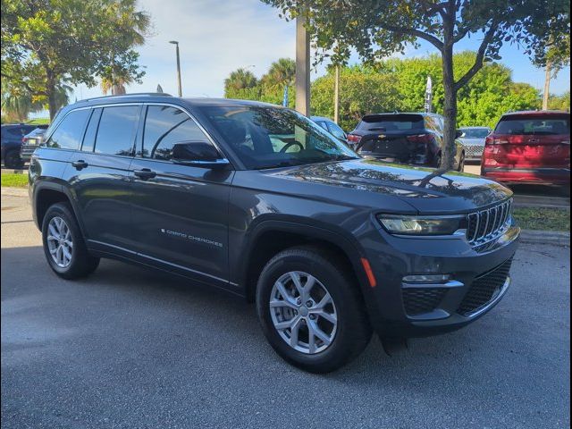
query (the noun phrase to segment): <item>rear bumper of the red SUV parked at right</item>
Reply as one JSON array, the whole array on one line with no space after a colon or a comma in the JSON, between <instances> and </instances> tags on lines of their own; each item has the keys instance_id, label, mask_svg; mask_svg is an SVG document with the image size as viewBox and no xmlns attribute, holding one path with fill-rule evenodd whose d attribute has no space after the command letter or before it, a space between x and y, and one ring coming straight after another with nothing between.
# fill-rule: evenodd
<instances>
[{"instance_id":1,"label":"rear bumper of the red SUV parked at right","mask_svg":"<svg viewBox=\"0 0 572 429\"><path fill-rule=\"evenodd\" d=\"M569 168L483 167L481 175L494 181L514 184L564 185L570 183Z\"/></svg>"}]
</instances>

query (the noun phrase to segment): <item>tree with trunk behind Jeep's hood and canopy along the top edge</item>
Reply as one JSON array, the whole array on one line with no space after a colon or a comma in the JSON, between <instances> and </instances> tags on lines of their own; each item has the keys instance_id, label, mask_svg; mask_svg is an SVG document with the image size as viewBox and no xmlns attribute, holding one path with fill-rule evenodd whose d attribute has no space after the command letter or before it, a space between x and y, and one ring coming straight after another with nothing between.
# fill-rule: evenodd
<instances>
[{"instance_id":1,"label":"tree with trunk behind Jeep's hood and canopy along the top edge","mask_svg":"<svg viewBox=\"0 0 572 429\"><path fill-rule=\"evenodd\" d=\"M420 39L432 44L442 56L444 168L453 165L459 90L485 61L500 59L504 43L524 46L526 55L545 63L549 36L565 35L570 27L568 0L262 1L278 7L287 19L303 13L318 48L317 61L323 61L335 46L353 46L372 61L402 52ZM454 47L469 37L480 41L475 63L456 79Z\"/></svg>"}]
</instances>

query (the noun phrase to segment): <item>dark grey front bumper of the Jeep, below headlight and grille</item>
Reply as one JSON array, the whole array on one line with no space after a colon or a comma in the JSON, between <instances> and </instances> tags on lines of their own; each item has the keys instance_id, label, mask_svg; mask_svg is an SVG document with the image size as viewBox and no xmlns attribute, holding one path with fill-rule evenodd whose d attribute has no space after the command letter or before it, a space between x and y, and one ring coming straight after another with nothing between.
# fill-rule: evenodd
<instances>
[{"instance_id":1,"label":"dark grey front bumper of the Jeep, below headlight and grille","mask_svg":"<svg viewBox=\"0 0 572 429\"><path fill-rule=\"evenodd\" d=\"M398 238L366 249L377 285L366 292L381 337L425 337L455 331L488 312L509 289L508 266L520 229L511 225L486 252L457 238ZM371 242L371 241L370 241ZM503 271L504 270L504 271ZM406 283L411 274L450 274L440 283Z\"/></svg>"}]
</instances>

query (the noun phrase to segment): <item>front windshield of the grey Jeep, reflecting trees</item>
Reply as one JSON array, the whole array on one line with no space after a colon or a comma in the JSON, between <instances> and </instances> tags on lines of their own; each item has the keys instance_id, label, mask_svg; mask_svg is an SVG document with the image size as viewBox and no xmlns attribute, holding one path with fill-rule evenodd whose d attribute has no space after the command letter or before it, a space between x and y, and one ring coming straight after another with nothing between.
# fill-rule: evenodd
<instances>
[{"instance_id":1,"label":"front windshield of the grey Jeep, reflecting trees","mask_svg":"<svg viewBox=\"0 0 572 429\"><path fill-rule=\"evenodd\" d=\"M315 122L289 109L240 105L200 110L250 170L359 157Z\"/></svg>"}]
</instances>

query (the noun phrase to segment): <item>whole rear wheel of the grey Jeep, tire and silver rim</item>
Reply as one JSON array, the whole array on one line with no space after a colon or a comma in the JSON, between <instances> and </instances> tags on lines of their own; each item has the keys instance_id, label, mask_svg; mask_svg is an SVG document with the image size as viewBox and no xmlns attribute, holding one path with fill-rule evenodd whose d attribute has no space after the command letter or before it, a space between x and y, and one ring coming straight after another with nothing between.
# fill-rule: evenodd
<instances>
[{"instance_id":1,"label":"whole rear wheel of the grey Jeep, tire and silver rim","mask_svg":"<svg viewBox=\"0 0 572 429\"><path fill-rule=\"evenodd\" d=\"M84 277L99 265L99 258L89 255L68 204L57 203L47 209L42 222L42 242L47 263L64 279Z\"/></svg>"}]
</instances>

